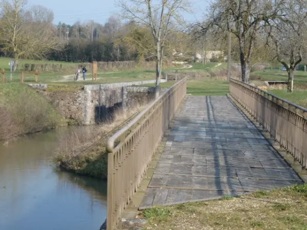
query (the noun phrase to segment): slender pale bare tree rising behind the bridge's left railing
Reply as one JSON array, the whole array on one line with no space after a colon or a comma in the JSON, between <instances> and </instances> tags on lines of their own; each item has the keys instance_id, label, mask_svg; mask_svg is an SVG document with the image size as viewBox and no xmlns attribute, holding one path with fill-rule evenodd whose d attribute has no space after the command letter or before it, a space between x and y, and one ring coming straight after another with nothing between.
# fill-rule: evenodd
<instances>
[{"instance_id":1,"label":"slender pale bare tree rising behind the bridge's left railing","mask_svg":"<svg viewBox=\"0 0 307 230\"><path fill-rule=\"evenodd\" d=\"M189 9L189 0L119 0L121 16L151 31L155 43L156 98L160 95L164 48L172 24L181 24L180 12Z\"/></svg>"}]
</instances>

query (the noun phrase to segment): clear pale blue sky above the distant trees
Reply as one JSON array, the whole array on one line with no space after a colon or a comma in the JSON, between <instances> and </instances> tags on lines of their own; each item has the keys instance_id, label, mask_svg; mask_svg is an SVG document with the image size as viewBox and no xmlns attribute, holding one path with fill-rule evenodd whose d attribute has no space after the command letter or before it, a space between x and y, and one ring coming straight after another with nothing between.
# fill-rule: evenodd
<instances>
[{"instance_id":1,"label":"clear pale blue sky above the distant trees","mask_svg":"<svg viewBox=\"0 0 307 230\"><path fill-rule=\"evenodd\" d=\"M208 0L190 0L192 13L185 13L184 18L189 21L201 20L203 12L208 6ZM109 16L119 9L114 0L28 0L28 6L42 5L54 12L54 24L73 25L77 20L94 20L104 24Z\"/></svg>"}]
</instances>

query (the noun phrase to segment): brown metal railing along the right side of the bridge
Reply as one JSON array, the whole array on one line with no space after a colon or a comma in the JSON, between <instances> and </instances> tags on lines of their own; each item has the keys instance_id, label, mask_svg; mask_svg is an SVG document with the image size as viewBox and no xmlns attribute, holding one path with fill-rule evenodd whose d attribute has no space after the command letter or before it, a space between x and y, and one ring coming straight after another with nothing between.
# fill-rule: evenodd
<instances>
[{"instance_id":1,"label":"brown metal railing along the right side of the bridge","mask_svg":"<svg viewBox=\"0 0 307 230\"><path fill-rule=\"evenodd\" d=\"M230 79L229 90L231 97L305 168L307 109L235 79Z\"/></svg>"}]
</instances>

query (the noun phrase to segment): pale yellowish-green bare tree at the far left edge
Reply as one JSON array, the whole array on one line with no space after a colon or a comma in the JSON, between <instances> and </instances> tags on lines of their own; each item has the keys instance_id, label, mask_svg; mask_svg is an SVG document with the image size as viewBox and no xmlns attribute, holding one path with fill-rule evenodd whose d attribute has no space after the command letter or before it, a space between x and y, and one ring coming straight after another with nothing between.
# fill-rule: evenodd
<instances>
[{"instance_id":1,"label":"pale yellowish-green bare tree at the far left edge","mask_svg":"<svg viewBox=\"0 0 307 230\"><path fill-rule=\"evenodd\" d=\"M24 0L3 0L1 9L0 43L13 56L14 71L20 58L43 58L61 47L51 22L29 21L25 16Z\"/></svg>"}]
</instances>

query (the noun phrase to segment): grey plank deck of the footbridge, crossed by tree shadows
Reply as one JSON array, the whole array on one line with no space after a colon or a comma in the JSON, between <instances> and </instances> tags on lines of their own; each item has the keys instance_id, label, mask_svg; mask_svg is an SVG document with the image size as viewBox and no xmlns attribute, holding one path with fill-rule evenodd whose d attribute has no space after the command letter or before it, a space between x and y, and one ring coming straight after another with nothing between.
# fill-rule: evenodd
<instances>
[{"instance_id":1,"label":"grey plank deck of the footbridge, crossed by tree shadows","mask_svg":"<svg viewBox=\"0 0 307 230\"><path fill-rule=\"evenodd\" d=\"M303 183L227 97L187 97L140 209Z\"/></svg>"}]
</instances>

